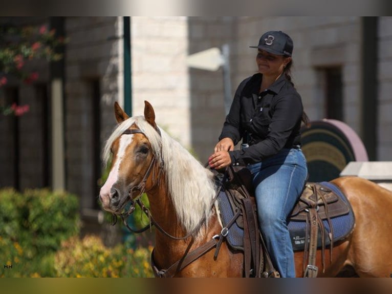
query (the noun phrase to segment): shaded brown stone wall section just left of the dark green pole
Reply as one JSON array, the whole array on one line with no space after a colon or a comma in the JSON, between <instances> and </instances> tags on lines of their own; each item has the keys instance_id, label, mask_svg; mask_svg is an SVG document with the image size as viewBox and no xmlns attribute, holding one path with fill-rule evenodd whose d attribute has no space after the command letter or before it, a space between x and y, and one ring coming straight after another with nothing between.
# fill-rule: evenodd
<instances>
[{"instance_id":1,"label":"shaded brown stone wall section just left of the dark green pole","mask_svg":"<svg viewBox=\"0 0 392 294\"><path fill-rule=\"evenodd\" d=\"M122 17L66 18L66 178L67 190L82 196L81 207L96 206L94 166L100 164L102 146L116 124L114 101L122 100L121 21ZM94 137L96 129L99 139Z\"/></svg>"}]
</instances>

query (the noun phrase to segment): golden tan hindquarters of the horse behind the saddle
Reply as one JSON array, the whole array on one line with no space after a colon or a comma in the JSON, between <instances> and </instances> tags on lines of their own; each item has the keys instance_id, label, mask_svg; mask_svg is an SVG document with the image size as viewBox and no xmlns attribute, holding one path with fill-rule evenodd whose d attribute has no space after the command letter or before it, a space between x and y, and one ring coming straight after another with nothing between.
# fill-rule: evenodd
<instances>
[{"instance_id":1,"label":"golden tan hindquarters of the horse behind the saddle","mask_svg":"<svg viewBox=\"0 0 392 294\"><path fill-rule=\"evenodd\" d=\"M358 177L333 181L349 199L356 225L344 265L360 277L389 277L392 273L392 193Z\"/></svg>"}]
</instances>

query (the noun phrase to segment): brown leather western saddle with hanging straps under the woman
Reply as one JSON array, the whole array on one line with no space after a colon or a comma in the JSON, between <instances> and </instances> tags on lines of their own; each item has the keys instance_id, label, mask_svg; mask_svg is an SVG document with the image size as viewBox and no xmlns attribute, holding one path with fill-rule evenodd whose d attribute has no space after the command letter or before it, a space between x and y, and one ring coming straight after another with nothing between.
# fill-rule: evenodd
<instances>
[{"instance_id":1,"label":"brown leather western saddle with hanging straps under the woman","mask_svg":"<svg viewBox=\"0 0 392 294\"><path fill-rule=\"evenodd\" d=\"M256 203L252 175L244 166L229 166L222 180L224 191L218 198L220 209L223 205L230 206L230 218L226 218L221 211L224 230L231 230L232 236L241 236L243 240L232 246L234 249L244 251L245 276L254 277L279 277L274 269L266 249L262 234L259 232ZM226 204L225 204L226 203ZM228 207L226 207L226 210ZM316 251L318 240L321 237L322 265L324 269L324 250L330 245L331 259L334 241L334 231L331 219L349 214L351 206L342 200L331 188L320 183L308 182L293 208L288 220L293 222L306 222L306 236L304 242L304 277L316 277ZM324 227L328 223L328 230ZM243 229L243 234L236 234L235 230ZM225 237L228 233L226 233ZM228 239L228 238L227 238ZM230 242L228 242L230 244ZM231 242L233 243L233 242ZM234 242L235 243L235 242ZM239 245L241 244L241 245ZM308 261L306 261L306 258Z\"/></svg>"}]
</instances>

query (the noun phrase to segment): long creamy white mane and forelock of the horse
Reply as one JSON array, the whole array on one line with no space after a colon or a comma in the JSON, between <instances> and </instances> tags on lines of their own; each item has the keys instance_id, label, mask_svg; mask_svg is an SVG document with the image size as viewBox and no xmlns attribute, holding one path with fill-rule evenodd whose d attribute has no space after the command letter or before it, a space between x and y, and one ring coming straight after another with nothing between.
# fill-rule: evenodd
<instances>
[{"instance_id":1,"label":"long creamy white mane and forelock of the horse","mask_svg":"<svg viewBox=\"0 0 392 294\"><path fill-rule=\"evenodd\" d=\"M113 141L134 123L151 143L157 160L164 161L168 192L178 219L186 232L191 232L198 226L202 218L208 219L210 215L211 200L215 196L212 173L161 128L159 128L160 137L143 116L128 118L118 125L106 141L103 150L104 162L110 158L110 148Z\"/></svg>"}]
</instances>

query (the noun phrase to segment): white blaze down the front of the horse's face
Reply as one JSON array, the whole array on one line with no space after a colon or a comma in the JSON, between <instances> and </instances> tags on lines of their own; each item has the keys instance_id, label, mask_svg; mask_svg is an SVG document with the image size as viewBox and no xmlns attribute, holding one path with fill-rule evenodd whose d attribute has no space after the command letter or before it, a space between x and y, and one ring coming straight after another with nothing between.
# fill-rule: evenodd
<instances>
[{"instance_id":1,"label":"white blaze down the front of the horse's face","mask_svg":"<svg viewBox=\"0 0 392 294\"><path fill-rule=\"evenodd\" d=\"M113 165L112 170L108 175L105 184L101 187L101 191L99 193L103 206L108 205L110 201L111 188L113 184L117 182L121 161L125 156L125 150L127 146L132 143L133 138L133 134L127 134L120 137L119 148L116 155L116 162Z\"/></svg>"}]
</instances>

